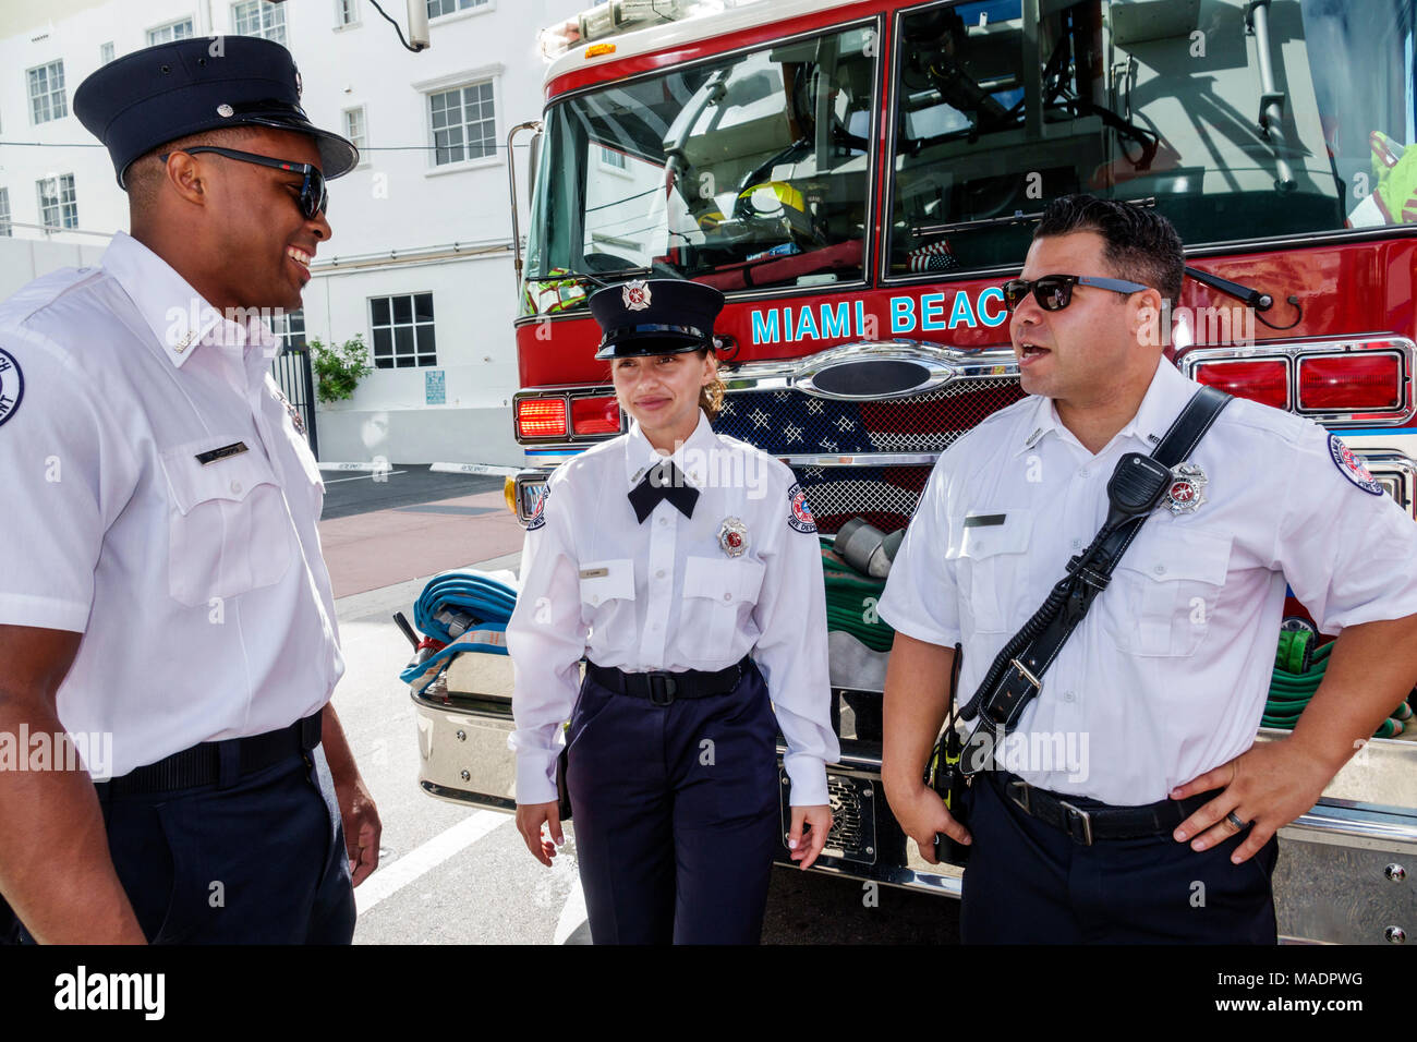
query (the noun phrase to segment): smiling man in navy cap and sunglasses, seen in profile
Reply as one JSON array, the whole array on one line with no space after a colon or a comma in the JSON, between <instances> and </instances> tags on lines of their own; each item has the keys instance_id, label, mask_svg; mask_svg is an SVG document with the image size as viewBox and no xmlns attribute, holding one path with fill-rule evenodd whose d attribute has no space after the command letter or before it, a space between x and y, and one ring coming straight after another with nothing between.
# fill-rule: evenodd
<instances>
[{"instance_id":1,"label":"smiling man in navy cap and sunglasses, seen in profile","mask_svg":"<svg viewBox=\"0 0 1417 1042\"><path fill-rule=\"evenodd\" d=\"M378 862L324 488L269 376L359 159L299 102L251 37L94 72L74 109L132 234L0 305L0 732L82 750L0 770L21 940L347 943Z\"/></svg>"}]
</instances>

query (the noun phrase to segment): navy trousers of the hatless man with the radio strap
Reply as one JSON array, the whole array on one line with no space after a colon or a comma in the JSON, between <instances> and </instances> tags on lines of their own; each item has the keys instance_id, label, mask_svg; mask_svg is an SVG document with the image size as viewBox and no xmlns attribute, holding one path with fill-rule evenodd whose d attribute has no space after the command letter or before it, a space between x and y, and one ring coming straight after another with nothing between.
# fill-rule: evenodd
<instances>
[{"instance_id":1,"label":"navy trousers of the hatless man with the radio strap","mask_svg":"<svg viewBox=\"0 0 1417 1042\"><path fill-rule=\"evenodd\" d=\"M1278 839L1240 865L1230 855L1246 832L1202 852L1169 832L1083 846L1024 814L992 774L969 788L969 832L966 944L1277 941Z\"/></svg>"}]
</instances>

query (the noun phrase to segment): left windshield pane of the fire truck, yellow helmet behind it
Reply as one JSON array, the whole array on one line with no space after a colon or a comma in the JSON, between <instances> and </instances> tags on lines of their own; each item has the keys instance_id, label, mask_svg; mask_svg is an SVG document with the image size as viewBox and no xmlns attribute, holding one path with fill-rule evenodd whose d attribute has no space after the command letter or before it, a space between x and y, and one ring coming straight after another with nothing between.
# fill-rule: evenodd
<instances>
[{"instance_id":1,"label":"left windshield pane of the fire truck, yellow helmet behind it","mask_svg":"<svg viewBox=\"0 0 1417 1042\"><path fill-rule=\"evenodd\" d=\"M849 28L554 105L523 313L646 267L726 292L860 279L873 44Z\"/></svg>"}]
</instances>

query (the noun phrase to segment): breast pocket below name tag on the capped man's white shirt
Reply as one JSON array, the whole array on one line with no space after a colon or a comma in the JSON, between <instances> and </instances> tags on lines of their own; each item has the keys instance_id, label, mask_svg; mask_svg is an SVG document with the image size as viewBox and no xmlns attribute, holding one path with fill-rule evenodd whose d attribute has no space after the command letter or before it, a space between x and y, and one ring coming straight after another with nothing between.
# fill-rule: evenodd
<instances>
[{"instance_id":1,"label":"breast pocket below name tag on the capped man's white shirt","mask_svg":"<svg viewBox=\"0 0 1417 1042\"><path fill-rule=\"evenodd\" d=\"M167 516L169 593L187 605L272 586L295 556L290 515L271 464L248 449L197 461L218 435L162 454Z\"/></svg>"}]
</instances>

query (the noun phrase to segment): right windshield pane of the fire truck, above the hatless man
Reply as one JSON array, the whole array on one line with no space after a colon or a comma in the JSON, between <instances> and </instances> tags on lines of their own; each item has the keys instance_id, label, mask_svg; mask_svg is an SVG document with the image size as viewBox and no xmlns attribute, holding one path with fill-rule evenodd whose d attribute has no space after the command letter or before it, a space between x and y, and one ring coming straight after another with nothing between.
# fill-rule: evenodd
<instances>
[{"instance_id":1,"label":"right windshield pane of the fire truck, above the hatless man","mask_svg":"<svg viewBox=\"0 0 1417 1042\"><path fill-rule=\"evenodd\" d=\"M903 17L891 272L1016 267L1013 218L1071 191L1155 198L1187 245L1417 220L1411 0L1037 10Z\"/></svg>"}]
</instances>

